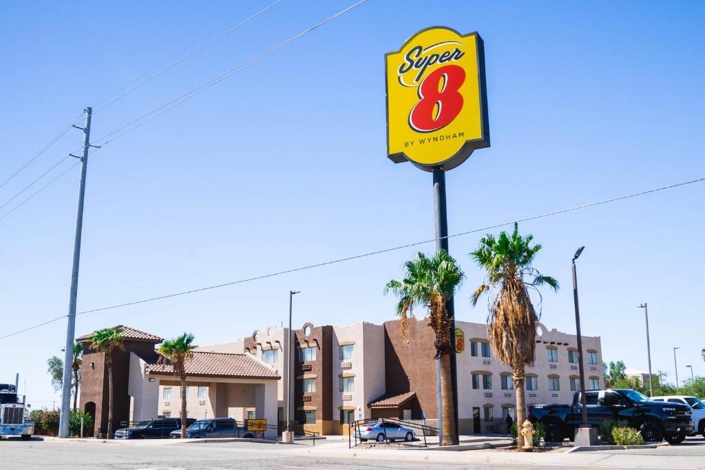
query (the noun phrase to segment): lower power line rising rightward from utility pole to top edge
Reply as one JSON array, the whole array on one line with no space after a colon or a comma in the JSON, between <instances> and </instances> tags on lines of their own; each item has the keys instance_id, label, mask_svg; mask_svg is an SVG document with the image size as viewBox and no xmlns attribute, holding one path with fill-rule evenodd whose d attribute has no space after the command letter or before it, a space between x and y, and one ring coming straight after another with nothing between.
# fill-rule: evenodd
<instances>
[{"instance_id":1,"label":"lower power line rising rightward from utility pole to top edge","mask_svg":"<svg viewBox=\"0 0 705 470\"><path fill-rule=\"evenodd\" d=\"M121 127L117 128L115 130L112 130L111 132L108 132L105 135L102 135L102 137L99 137L97 140L95 140L95 142L102 142L103 140L106 139L106 137L114 135L117 132L120 132L121 130L123 130L125 128L129 128L130 125L133 125L133 124L139 122L140 120L147 118L147 120L145 120L145 122L147 122L149 120L156 118L157 116L160 116L163 113L166 113L166 111L173 109L174 107L178 106L179 104L183 103L184 101L187 101L188 99L191 99L192 97L195 97L197 94L200 94L201 92L204 92L205 90L218 84L219 82L222 82L223 80L230 77L231 75L238 73L243 68L246 68L247 66L250 66L253 63L259 61L260 59L262 59L266 56L269 56L269 54L272 54L272 53L278 51L282 47L285 47L286 45L294 42L295 40L299 39L300 37L307 35L309 32L316 30L317 28L325 25L326 23L329 23L329 22L335 20L339 16L342 16L345 13L348 13L348 11L353 10L354 8L357 8L358 6L360 6L366 2L367 2L367 0L357 1L357 3L355 3L351 6L348 6L348 8L345 8L343 11L340 11L340 12L336 13L335 15L333 15L329 18L326 18L325 20L321 21L320 23L317 23L316 25L309 27L307 30L304 30L304 31L298 33L297 35L294 35L294 36L290 37L289 39L286 39L286 41L277 44L276 46L272 47L271 49L267 49L266 51L262 52L261 54L258 54L257 56L250 58L250 60L241 63L239 66L235 66L235 67L231 68L227 72L222 73L221 75L218 75L216 78L213 78L212 80L209 80L208 82L205 82L202 85L199 85L198 87L195 87L194 89L191 89L190 91L180 95L179 97L172 99L168 103L162 104L161 106L159 106L155 109L152 109L152 111L149 111L148 113L145 113L142 116L131 120L129 123L126 123L125 125L122 125ZM149 117L152 114L157 113L158 111L162 111L162 110L163 110L163 112L160 112L156 116ZM143 123L140 123L139 125L142 125L142 124ZM138 127L138 126L135 126L135 127ZM123 132L122 135L124 135L125 133L127 133L127 132ZM115 140L115 139L112 139L112 140Z\"/></svg>"}]
</instances>

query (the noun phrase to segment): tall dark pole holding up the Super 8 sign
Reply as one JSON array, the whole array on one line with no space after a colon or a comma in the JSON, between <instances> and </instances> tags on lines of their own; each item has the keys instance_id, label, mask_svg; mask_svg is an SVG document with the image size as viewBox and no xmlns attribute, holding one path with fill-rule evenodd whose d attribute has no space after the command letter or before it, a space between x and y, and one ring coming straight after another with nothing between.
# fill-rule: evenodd
<instances>
[{"instance_id":1,"label":"tall dark pole holding up the Super 8 sign","mask_svg":"<svg viewBox=\"0 0 705 470\"><path fill-rule=\"evenodd\" d=\"M434 214L436 221L436 251L448 251L448 206L446 204L446 171L434 168ZM455 366L455 302L450 297L446 302L446 311L453 321L450 323L450 382L453 387L453 419L455 421L455 439L458 440L458 371ZM443 438L443 403L441 400L441 361L436 361L436 379L438 383L439 404L439 438ZM441 443L442 445L442 443Z\"/></svg>"}]
</instances>

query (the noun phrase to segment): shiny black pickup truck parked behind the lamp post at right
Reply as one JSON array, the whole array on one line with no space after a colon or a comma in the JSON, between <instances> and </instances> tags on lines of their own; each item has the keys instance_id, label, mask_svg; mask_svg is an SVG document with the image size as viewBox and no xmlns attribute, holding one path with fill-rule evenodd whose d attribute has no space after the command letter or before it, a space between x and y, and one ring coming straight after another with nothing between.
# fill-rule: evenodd
<instances>
[{"instance_id":1,"label":"shiny black pickup truck parked behind the lamp post at right","mask_svg":"<svg viewBox=\"0 0 705 470\"><path fill-rule=\"evenodd\" d=\"M692 409L685 404L652 402L635 390L611 388L585 392L587 421L593 427L609 419L627 421L642 433L645 441L666 438L670 444L680 444L693 432ZM546 440L573 440L575 428L582 424L580 392L575 392L572 404L534 404L527 407L529 419L544 426Z\"/></svg>"}]
</instances>

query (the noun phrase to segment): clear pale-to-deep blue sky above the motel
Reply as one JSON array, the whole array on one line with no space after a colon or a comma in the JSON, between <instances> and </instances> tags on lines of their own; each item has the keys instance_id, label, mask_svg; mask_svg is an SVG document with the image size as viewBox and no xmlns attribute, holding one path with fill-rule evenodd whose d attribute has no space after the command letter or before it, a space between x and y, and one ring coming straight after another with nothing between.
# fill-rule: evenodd
<instances>
[{"instance_id":1,"label":"clear pale-to-deep blue sky above the motel","mask_svg":"<svg viewBox=\"0 0 705 470\"><path fill-rule=\"evenodd\" d=\"M0 179L85 106L269 3L4 5ZM351 3L282 1L96 113L93 135ZM699 2L370 0L91 156L78 309L433 237L431 175L386 159L384 113L384 53L430 25L477 30L485 42L492 146L448 173L450 233L702 177L704 20ZM0 204L80 141L78 130L68 132L0 189ZM66 314L77 180L75 168L0 221L3 334ZM583 331L601 336L604 358L646 369L643 312L635 306L648 302L654 370L673 374L671 348L680 346L680 378L689 375L685 364L705 375L704 195L705 183L697 183L522 223L544 245L537 268L563 285L544 292L546 326L575 330L570 258L586 245ZM467 321L486 314L484 304L469 301L482 273L467 253L480 236L450 240L467 273L455 302ZM299 325L380 323L394 316L384 283L414 252L86 314L76 333L124 323L225 342L286 321L290 289L302 291ZM65 330L59 321L1 340L8 360L0 381L19 371L30 402L51 407L45 361L60 353Z\"/></svg>"}]
</instances>

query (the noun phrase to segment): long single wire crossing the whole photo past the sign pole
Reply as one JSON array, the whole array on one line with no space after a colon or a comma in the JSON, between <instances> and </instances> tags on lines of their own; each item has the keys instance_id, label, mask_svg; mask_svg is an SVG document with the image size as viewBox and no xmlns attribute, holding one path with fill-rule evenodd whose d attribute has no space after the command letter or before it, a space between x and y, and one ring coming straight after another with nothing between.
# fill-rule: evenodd
<instances>
[{"instance_id":1,"label":"long single wire crossing the whole photo past the sign pole","mask_svg":"<svg viewBox=\"0 0 705 470\"><path fill-rule=\"evenodd\" d=\"M567 213L567 212L577 211L577 210L580 210L580 209L587 209L587 208L589 208L589 207L599 206L599 205L601 205L601 204L608 204L608 203L611 203L611 202L622 201L622 200L624 200L624 199L630 199L630 198L632 198L632 197L644 196L645 194L651 194L651 193L654 193L654 192L670 190L670 189L673 189L673 188L675 188L675 187L681 187L681 186L685 186L685 185L692 185L692 184L694 184L694 183L700 183L700 182L702 182L702 181L705 181L705 178L698 178L698 179L696 179L696 180L689 180L689 181L684 181L684 182L682 182L682 183L675 183L674 185L656 187L656 188L651 189L651 190L645 190L645 191L641 191L641 192L635 192L635 193L632 193L632 194L626 194L626 195L624 195L624 196L613 197L613 198L611 198L611 199L603 199L603 200L601 200L601 201L590 202L589 204L582 204L582 205L580 205L580 206L573 206L573 207L569 207L569 208L567 208L567 209L560 209L560 210L558 210L558 211L546 212L546 213L544 213L544 214L538 214L538 215L536 215L536 216L530 216L530 217L520 218L520 219L517 219L517 220L514 220L514 221L508 221L508 222L503 222L503 223L496 223L496 224L494 224L494 225L488 225L487 227L483 227L483 228L475 228L475 229L473 229L473 230L467 230L467 231L465 231L465 232L454 233L453 235L448 235L448 238L460 237L460 236L462 236L462 235L470 235L471 233L485 232L486 230L492 230L492 229L494 229L494 228L501 228L501 227L504 227L504 226L506 226L506 225L511 225L511 224L513 224L513 223L515 223L515 222L516 222L516 223L520 223L520 222L534 221L534 220L536 220L536 219L538 219L538 218L556 216L556 215L558 215L558 214L565 214L565 213ZM210 285L210 286L208 286L208 287L199 287L199 288L197 288L197 289L185 290L185 291L182 291L182 292L175 292L175 293L173 293L173 294L167 294L167 295L160 295L160 296L158 296L158 297L149 297L149 298L147 298L147 299L135 300L135 301L133 301L133 302L125 302L125 303L123 303L123 304L115 304L115 305L111 305L111 306L109 306L109 307L101 307L101 308L99 308L99 309L84 310L84 311L78 312L77 315L91 314L91 313L95 313L95 312L98 312L98 311L106 311L106 310L118 309L118 308L121 308L121 307L129 307L129 306L137 305L137 304L145 304L145 303L147 303L147 302L154 302L154 301L157 301L157 300L169 299L169 298L171 298L171 297L180 297L180 296L182 296L182 295L194 294L194 293L196 293L196 292L204 292L204 291L206 291L206 290L219 289L220 287L226 287L226 286L229 286L229 285L243 284L243 283L248 283L248 282L251 282L251 281L254 281L254 280L261 280L261 279L265 279L265 278L273 278L274 276L281 276L281 275L283 275L283 274L295 273L295 272L298 272L298 271L305 271L305 270L313 269L313 268L320 268L321 266L329 266L329 265L331 265L331 264L343 263L343 262L345 262L345 261L352 261L352 260L354 260L354 259L366 258L366 257L368 257L368 256L374 256L374 255L376 255L376 254L383 254L383 253L393 252L393 251L396 251L396 250L399 250L399 249L405 249L405 248L410 248L410 247L417 247L417 246L419 246L419 245L424 245L424 244L426 244L426 243L431 243L431 242L436 242L436 238L431 238L431 239L429 239L429 240L423 240L423 241L421 241L421 242L408 243L408 244L406 244L406 245L398 245L398 246L396 246L396 247L391 247L391 248L379 249L379 250L374 251L374 252L368 252L368 253L363 253L363 254L355 254L355 255L353 255L353 256L346 256L345 258L333 259L333 260L331 260L331 261L324 261L324 262L322 262L322 263L317 263L317 264L309 264L309 265L307 265L307 266L300 266L300 267L298 267L298 268L291 268L291 269L286 269L286 270L283 270L283 271L275 271L274 273L263 274L263 275L261 275L261 276L254 276L254 277L251 277L251 278L244 278L244 279L240 279L240 280L234 280L234 281L231 281L231 282L228 282L228 283ZM14 336L14 335L18 335L18 334L20 334L20 333L24 333L24 332L27 331L27 330L32 330L32 329L34 329L34 328L39 328L40 326L44 326L44 325L46 325L47 323L51 323L51 322L57 321L57 320L62 319L62 318L64 318L64 317L66 317L66 315L59 316L59 317L56 318L56 319L52 319L52 320L46 321L46 322L44 322L44 323L39 323L38 325L35 325L35 326L30 326L30 327L28 327L28 328L25 328L24 330L16 331L15 333L10 333L10 334L8 334L8 335L1 336L1 337L0 337L0 340L3 340L3 339L5 339L5 338L9 338L9 337Z\"/></svg>"}]
</instances>

